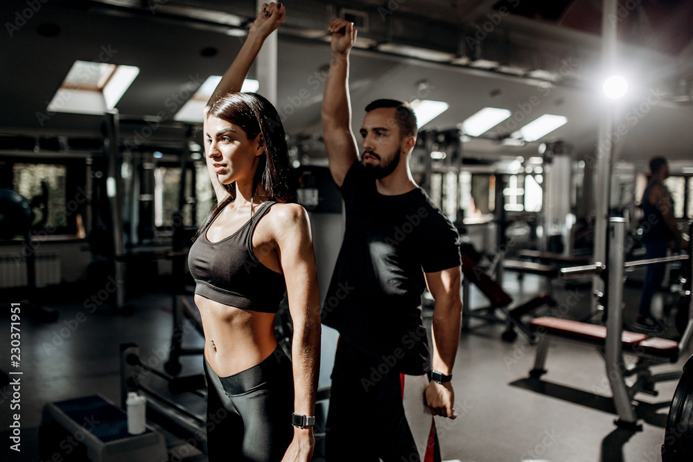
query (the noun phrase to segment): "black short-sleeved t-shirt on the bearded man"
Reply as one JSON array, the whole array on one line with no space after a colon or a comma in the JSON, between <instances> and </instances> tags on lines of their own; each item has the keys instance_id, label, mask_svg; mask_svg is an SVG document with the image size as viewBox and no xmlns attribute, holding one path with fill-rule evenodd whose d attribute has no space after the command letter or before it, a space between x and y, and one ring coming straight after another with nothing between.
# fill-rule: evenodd
<instances>
[{"instance_id":1,"label":"black short-sleeved t-shirt on the bearded man","mask_svg":"<svg viewBox=\"0 0 693 462\"><path fill-rule=\"evenodd\" d=\"M421 375L430 369L423 273L460 265L457 230L421 188L378 193L358 161L340 191L347 225L323 323L383 368Z\"/></svg>"}]
</instances>

